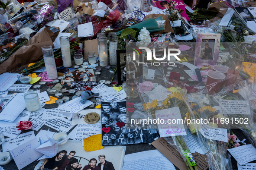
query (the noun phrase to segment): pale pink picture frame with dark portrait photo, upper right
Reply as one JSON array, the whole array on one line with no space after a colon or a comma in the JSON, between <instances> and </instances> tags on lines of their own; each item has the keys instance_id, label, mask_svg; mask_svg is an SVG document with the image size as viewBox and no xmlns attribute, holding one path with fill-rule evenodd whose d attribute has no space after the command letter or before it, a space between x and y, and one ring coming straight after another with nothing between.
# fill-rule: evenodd
<instances>
[{"instance_id":1,"label":"pale pink picture frame with dark portrait photo, upper right","mask_svg":"<svg viewBox=\"0 0 256 170\"><path fill-rule=\"evenodd\" d=\"M215 65L219 50L220 34L197 34L194 65Z\"/></svg>"}]
</instances>

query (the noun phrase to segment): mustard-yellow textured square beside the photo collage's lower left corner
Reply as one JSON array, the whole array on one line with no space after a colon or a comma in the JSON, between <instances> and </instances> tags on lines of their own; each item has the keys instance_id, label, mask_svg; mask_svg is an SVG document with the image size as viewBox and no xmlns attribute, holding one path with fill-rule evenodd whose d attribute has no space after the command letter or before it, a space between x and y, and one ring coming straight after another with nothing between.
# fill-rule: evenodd
<instances>
[{"instance_id":1,"label":"mustard-yellow textured square beside the photo collage's lower left corner","mask_svg":"<svg viewBox=\"0 0 256 170\"><path fill-rule=\"evenodd\" d=\"M84 150L85 151L97 151L103 149L101 134L92 135L84 139Z\"/></svg>"}]
</instances>

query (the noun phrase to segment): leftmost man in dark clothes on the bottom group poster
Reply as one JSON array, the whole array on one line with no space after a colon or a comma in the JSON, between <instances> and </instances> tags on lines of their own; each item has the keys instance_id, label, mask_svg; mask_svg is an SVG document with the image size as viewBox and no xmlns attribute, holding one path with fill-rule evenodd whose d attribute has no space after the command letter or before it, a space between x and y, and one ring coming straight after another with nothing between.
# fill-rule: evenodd
<instances>
[{"instance_id":1,"label":"leftmost man in dark clothes on the bottom group poster","mask_svg":"<svg viewBox=\"0 0 256 170\"><path fill-rule=\"evenodd\" d=\"M56 154L55 157L46 159L40 170L58 170L62 163L65 161L63 157L67 154L67 151L62 150Z\"/></svg>"}]
</instances>

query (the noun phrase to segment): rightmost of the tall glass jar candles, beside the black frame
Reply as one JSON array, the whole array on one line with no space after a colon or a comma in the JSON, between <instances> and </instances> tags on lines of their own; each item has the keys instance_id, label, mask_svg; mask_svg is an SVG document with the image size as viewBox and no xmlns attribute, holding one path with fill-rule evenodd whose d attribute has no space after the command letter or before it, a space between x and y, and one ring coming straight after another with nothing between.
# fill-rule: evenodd
<instances>
[{"instance_id":1,"label":"rightmost of the tall glass jar candles, beside the black frame","mask_svg":"<svg viewBox=\"0 0 256 170\"><path fill-rule=\"evenodd\" d=\"M117 65L117 36L112 35L109 39L109 63L111 66Z\"/></svg>"}]
</instances>

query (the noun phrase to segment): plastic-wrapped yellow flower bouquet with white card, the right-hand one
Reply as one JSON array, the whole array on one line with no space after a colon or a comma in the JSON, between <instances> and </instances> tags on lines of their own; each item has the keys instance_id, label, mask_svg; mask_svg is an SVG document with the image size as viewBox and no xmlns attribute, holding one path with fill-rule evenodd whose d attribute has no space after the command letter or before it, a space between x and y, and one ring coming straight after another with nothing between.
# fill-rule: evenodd
<instances>
[{"instance_id":1,"label":"plastic-wrapped yellow flower bouquet with white card, the right-hand one","mask_svg":"<svg viewBox=\"0 0 256 170\"><path fill-rule=\"evenodd\" d=\"M191 103L191 115L186 116L193 122L189 125L191 133L198 135L201 145L207 151L209 169L232 169L227 154L227 134L230 132L230 127L220 121L225 120L227 115L221 112L218 98L201 93L192 93L191 96L197 102Z\"/></svg>"}]
</instances>

